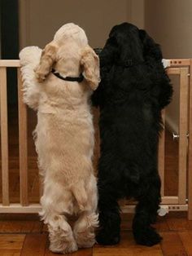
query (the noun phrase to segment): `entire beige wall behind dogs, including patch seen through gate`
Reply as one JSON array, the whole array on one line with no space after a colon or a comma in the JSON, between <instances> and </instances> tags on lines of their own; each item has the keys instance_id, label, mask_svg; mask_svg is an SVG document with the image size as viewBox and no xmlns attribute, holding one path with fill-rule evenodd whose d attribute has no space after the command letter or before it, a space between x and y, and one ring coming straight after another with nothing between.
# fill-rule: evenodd
<instances>
[{"instance_id":1,"label":"entire beige wall behind dogs, including patch seen through gate","mask_svg":"<svg viewBox=\"0 0 192 256\"><path fill-rule=\"evenodd\" d=\"M62 24L81 25L93 47L102 47L111 27L128 21L145 28L162 46L164 58L192 58L192 0L19 0L20 48L44 47ZM179 86L167 109L172 130L179 118Z\"/></svg>"}]
</instances>

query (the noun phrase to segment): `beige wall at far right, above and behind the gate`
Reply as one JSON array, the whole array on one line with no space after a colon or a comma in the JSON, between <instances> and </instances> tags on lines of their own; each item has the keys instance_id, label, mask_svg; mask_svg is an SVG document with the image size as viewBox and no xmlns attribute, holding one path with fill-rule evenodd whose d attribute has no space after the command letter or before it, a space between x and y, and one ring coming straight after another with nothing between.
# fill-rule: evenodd
<instances>
[{"instance_id":1,"label":"beige wall at far right, above and behind the gate","mask_svg":"<svg viewBox=\"0 0 192 256\"><path fill-rule=\"evenodd\" d=\"M162 46L164 58L192 58L192 1L145 0L145 28ZM167 109L168 125L178 130L179 86Z\"/></svg>"}]
</instances>

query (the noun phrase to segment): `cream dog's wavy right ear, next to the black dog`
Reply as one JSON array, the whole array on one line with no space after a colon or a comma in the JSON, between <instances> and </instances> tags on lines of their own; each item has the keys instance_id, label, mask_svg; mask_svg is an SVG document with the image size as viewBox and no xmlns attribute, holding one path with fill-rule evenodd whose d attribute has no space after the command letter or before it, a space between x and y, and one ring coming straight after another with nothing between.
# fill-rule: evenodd
<instances>
[{"instance_id":1,"label":"cream dog's wavy right ear, next to the black dog","mask_svg":"<svg viewBox=\"0 0 192 256\"><path fill-rule=\"evenodd\" d=\"M82 51L81 66L83 74L92 90L96 90L100 82L99 59L90 46Z\"/></svg>"}]
</instances>

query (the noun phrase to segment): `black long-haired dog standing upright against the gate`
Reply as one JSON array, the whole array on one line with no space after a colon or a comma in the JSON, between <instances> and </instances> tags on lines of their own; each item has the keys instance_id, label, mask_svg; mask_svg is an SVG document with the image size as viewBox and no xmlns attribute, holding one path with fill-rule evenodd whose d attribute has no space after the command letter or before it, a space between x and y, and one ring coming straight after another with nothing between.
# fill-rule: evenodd
<instances>
[{"instance_id":1,"label":"black long-haired dog standing upright against the gate","mask_svg":"<svg viewBox=\"0 0 192 256\"><path fill-rule=\"evenodd\" d=\"M162 64L160 47L133 24L111 29L100 53L102 81L93 102L100 106L101 157L98 163L97 241L120 241L118 200L138 201L133 235L138 244L155 245L161 237L151 223L159 209L157 154L161 110L169 104L172 86Z\"/></svg>"}]
</instances>

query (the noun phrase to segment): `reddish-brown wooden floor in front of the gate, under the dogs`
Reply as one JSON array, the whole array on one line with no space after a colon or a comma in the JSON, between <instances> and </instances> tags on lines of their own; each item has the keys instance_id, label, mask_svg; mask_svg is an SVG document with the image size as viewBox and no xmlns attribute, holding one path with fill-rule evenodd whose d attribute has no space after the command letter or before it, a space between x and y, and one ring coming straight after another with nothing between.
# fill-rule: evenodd
<instances>
[{"instance_id":1,"label":"reddish-brown wooden floor in front of the gate, under the dogs","mask_svg":"<svg viewBox=\"0 0 192 256\"><path fill-rule=\"evenodd\" d=\"M133 215L122 217L121 241L116 246L94 245L91 249L79 249L74 256L176 256L192 255L192 221L185 213L171 213L159 218L155 225L164 237L159 245L145 247L133 241L131 223ZM1 256L50 256L46 227L32 215L1 216L0 220L0 255Z\"/></svg>"}]
</instances>

